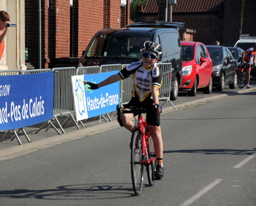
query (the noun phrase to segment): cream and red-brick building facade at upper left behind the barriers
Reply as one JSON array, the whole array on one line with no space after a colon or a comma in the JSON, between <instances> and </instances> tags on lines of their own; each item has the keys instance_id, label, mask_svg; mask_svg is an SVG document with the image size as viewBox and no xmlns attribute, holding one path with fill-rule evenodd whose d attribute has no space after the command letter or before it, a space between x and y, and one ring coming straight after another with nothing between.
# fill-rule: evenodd
<instances>
[{"instance_id":1,"label":"cream and red-brick building facade at upper left behind the barriers","mask_svg":"<svg viewBox=\"0 0 256 206\"><path fill-rule=\"evenodd\" d=\"M38 12L41 2L41 12ZM0 69L77 66L94 34L129 24L129 0L0 0L17 27L9 28ZM39 10L40 11L40 10ZM41 44L38 14L41 15ZM40 19L40 18L39 18ZM25 60L25 48L27 60ZM40 51L40 50L39 50ZM15 60L15 61L14 61Z\"/></svg>"}]
</instances>

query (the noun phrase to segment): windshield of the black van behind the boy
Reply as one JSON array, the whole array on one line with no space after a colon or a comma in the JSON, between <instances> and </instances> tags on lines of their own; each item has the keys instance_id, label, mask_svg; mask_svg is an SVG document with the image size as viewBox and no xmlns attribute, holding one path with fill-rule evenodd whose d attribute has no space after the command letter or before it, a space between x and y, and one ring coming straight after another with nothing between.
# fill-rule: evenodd
<instances>
[{"instance_id":1,"label":"windshield of the black van behind the boy","mask_svg":"<svg viewBox=\"0 0 256 206\"><path fill-rule=\"evenodd\" d=\"M140 59L140 47L148 40L150 37L131 36L124 32L98 35L90 45L86 56Z\"/></svg>"}]
</instances>

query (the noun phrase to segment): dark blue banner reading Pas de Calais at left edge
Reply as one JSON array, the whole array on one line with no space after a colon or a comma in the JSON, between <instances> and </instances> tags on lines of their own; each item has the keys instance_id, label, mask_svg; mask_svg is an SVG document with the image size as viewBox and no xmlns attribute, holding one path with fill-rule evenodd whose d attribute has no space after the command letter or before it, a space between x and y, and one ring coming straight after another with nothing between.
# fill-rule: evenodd
<instances>
[{"instance_id":1,"label":"dark blue banner reading Pas de Calais at left edge","mask_svg":"<svg viewBox=\"0 0 256 206\"><path fill-rule=\"evenodd\" d=\"M54 72L0 76L0 130L53 118Z\"/></svg>"}]
</instances>

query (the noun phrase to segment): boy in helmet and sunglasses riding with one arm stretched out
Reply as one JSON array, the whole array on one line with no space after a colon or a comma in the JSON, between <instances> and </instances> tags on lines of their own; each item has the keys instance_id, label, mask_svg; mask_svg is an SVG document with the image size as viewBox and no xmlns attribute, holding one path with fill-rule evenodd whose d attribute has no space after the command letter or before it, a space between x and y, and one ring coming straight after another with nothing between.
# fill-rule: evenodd
<instances>
[{"instance_id":1,"label":"boy in helmet and sunglasses riding with one arm stretched out","mask_svg":"<svg viewBox=\"0 0 256 206\"><path fill-rule=\"evenodd\" d=\"M157 114L148 112L146 121L150 125L150 134L154 142L154 149L158 162L155 179L161 179L164 176L164 167L162 164L163 143L160 127L160 113L162 112L162 108L159 105L158 96L162 83L162 75L156 62L162 54L162 49L160 44L156 44L152 41L145 41L140 52L142 53L140 55L142 59L130 64L122 69L122 71L119 71L118 74L114 74L98 84L87 81L84 81L84 84L89 84L89 89L98 89L132 75L132 99L127 105L124 105L124 109L130 110L132 106L140 106L148 110L154 109L154 105L157 105ZM132 121L133 114L125 113L122 114L121 118L124 127L133 133L135 131L135 126Z\"/></svg>"}]
</instances>

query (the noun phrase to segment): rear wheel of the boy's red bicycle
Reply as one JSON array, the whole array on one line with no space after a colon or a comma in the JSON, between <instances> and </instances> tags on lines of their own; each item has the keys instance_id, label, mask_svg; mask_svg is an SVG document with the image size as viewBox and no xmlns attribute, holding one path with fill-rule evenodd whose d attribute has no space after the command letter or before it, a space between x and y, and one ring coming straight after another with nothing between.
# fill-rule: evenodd
<instances>
[{"instance_id":1,"label":"rear wheel of the boy's red bicycle","mask_svg":"<svg viewBox=\"0 0 256 206\"><path fill-rule=\"evenodd\" d=\"M155 175L155 170L156 170L156 155L155 155L155 149L154 149L154 144L151 136L149 136L149 159L151 160L152 158L155 158L154 161L150 161L150 165L146 167L147 169L147 174L148 174L148 181L149 185L153 186L155 183L154 175Z\"/></svg>"}]
</instances>

